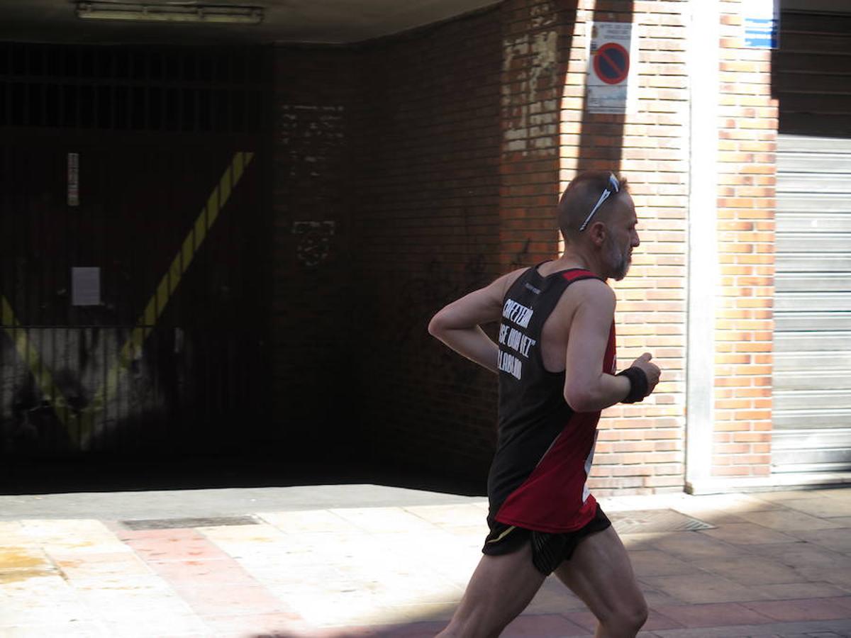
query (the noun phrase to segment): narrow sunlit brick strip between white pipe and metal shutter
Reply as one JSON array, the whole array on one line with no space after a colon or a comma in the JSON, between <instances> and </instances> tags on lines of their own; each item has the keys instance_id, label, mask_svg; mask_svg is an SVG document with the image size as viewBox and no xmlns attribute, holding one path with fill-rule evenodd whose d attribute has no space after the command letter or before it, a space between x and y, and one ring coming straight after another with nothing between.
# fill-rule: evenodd
<instances>
[{"instance_id":1,"label":"narrow sunlit brick strip between white pipe and metal shutter","mask_svg":"<svg viewBox=\"0 0 851 638\"><path fill-rule=\"evenodd\" d=\"M712 474L771 470L774 185L771 52L745 48L743 3L722 3L716 426Z\"/></svg>"}]
</instances>

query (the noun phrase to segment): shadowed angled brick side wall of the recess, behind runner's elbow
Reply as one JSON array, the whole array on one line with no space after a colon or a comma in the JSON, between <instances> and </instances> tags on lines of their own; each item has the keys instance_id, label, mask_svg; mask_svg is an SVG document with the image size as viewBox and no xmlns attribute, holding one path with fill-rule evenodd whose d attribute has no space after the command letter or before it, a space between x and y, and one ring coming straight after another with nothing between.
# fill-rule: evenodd
<instances>
[{"instance_id":1,"label":"shadowed angled brick side wall of the recess, behind runner's elbow","mask_svg":"<svg viewBox=\"0 0 851 638\"><path fill-rule=\"evenodd\" d=\"M496 378L427 332L443 305L500 271L500 13L366 43L350 382L381 459L484 476Z\"/></svg>"}]
</instances>

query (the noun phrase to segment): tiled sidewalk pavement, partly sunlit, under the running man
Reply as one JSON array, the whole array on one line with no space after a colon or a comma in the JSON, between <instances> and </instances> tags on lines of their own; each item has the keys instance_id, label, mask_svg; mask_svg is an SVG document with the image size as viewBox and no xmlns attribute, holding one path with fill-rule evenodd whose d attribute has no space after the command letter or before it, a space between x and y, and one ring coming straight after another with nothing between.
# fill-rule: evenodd
<instances>
[{"instance_id":1,"label":"tiled sidewalk pavement, partly sunlit, under the running man","mask_svg":"<svg viewBox=\"0 0 851 638\"><path fill-rule=\"evenodd\" d=\"M851 489L601 499L642 635L851 636ZM0 496L0 636L431 636L486 504L394 487ZM590 636L549 578L505 636Z\"/></svg>"}]
</instances>

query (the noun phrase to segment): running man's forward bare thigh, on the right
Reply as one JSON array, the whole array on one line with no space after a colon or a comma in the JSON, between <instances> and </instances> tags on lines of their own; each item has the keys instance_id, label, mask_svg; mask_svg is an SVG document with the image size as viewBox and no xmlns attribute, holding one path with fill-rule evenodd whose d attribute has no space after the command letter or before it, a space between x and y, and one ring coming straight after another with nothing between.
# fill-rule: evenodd
<instances>
[{"instance_id":1,"label":"running man's forward bare thigh, on the right","mask_svg":"<svg viewBox=\"0 0 851 638\"><path fill-rule=\"evenodd\" d=\"M645 606L630 557L614 527L583 538L555 574L600 620Z\"/></svg>"}]
</instances>

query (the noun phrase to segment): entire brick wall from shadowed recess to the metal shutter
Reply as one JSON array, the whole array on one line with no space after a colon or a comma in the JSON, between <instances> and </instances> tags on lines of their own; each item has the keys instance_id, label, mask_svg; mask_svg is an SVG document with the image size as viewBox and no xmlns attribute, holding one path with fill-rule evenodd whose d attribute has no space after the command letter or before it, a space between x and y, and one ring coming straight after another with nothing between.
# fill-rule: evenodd
<instances>
[{"instance_id":1,"label":"entire brick wall from shadowed recess to the metal shutter","mask_svg":"<svg viewBox=\"0 0 851 638\"><path fill-rule=\"evenodd\" d=\"M715 476L744 476L767 473L770 460L777 113L768 54L741 48L740 3L722 6L722 296L711 453ZM307 396L375 459L483 476L495 438L495 379L431 339L427 322L500 273L554 257L559 193L581 169L613 168L630 180L642 236L630 276L613 282L620 367L649 350L664 373L654 396L603 414L591 487L681 489L686 12L683 2L505 0L370 43L280 54L282 104L322 107L295 124L284 117L292 111L279 111L282 409ZM590 20L637 29L637 112L585 112ZM334 130L317 138L323 114ZM335 222L321 264L297 259L296 219ZM300 302L297 322L291 299ZM296 323L309 337L300 345L290 339ZM307 370L293 347L317 353Z\"/></svg>"}]
</instances>

